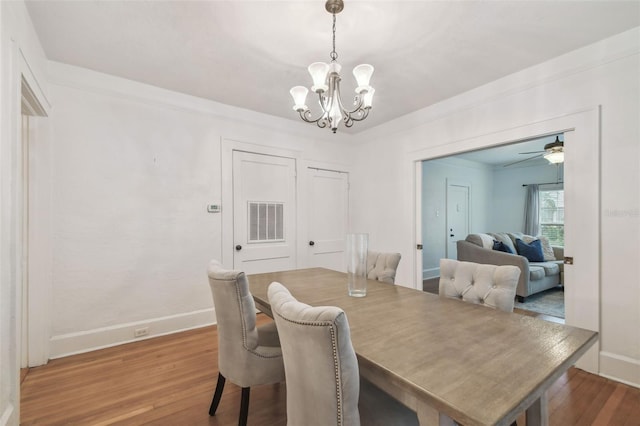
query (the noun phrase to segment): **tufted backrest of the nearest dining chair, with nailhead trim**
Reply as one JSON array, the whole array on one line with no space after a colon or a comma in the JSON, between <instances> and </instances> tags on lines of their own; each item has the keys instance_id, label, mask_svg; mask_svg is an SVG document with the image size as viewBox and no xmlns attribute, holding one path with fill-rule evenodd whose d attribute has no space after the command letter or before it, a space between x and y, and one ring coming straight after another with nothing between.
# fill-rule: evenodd
<instances>
[{"instance_id":1,"label":"tufted backrest of the nearest dining chair, with nailhead trim","mask_svg":"<svg viewBox=\"0 0 640 426\"><path fill-rule=\"evenodd\" d=\"M359 425L358 361L346 314L298 302L280 283L268 290L287 382L288 425Z\"/></svg>"}]
</instances>

